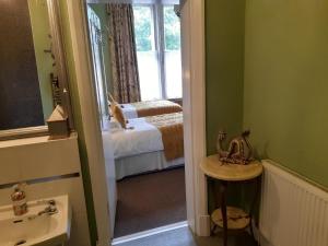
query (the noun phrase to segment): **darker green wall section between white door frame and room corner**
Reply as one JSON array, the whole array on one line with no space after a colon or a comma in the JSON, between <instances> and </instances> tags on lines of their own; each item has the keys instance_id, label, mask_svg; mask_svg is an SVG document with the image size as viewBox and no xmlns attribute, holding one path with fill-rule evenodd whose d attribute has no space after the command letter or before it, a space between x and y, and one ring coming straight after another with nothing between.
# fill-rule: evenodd
<instances>
[{"instance_id":1,"label":"darker green wall section between white door frame and room corner","mask_svg":"<svg viewBox=\"0 0 328 246\"><path fill-rule=\"evenodd\" d=\"M242 131L244 0L206 1L206 96L208 154L216 152L220 129Z\"/></svg>"}]
</instances>

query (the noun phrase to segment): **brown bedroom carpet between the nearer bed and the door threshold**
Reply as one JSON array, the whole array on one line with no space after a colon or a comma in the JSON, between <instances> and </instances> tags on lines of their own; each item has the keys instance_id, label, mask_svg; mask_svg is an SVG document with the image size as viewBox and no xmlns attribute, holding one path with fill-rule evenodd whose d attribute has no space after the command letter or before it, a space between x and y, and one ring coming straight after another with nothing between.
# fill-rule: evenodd
<instances>
[{"instance_id":1,"label":"brown bedroom carpet between the nearer bed and the door threshold","mask_svg":"<svg viewBox=\"0 0 328 246\"><path fill-rule=\"evenodd\" d=\"M185 221L184 167L125 178L117 184L114 237Z\"/></svg>"}]
</instances>

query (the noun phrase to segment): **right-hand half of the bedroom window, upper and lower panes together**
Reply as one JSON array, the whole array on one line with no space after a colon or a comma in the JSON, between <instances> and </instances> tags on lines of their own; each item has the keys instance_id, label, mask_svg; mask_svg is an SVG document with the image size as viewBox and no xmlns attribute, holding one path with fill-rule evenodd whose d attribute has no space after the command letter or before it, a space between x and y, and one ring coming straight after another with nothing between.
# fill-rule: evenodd
<instances>
[{"instance_id":1,"label":"right-hand half of the bedroom window, upper and lower panes together","mask_svg":"<svg viewBox=\"0 0 328 246\"><path fill-rule=\"evenodd\" d=\"M183 97L180 20L173 5L164 7L165 84L168 98Z\"/></svg>"}]
</instances>

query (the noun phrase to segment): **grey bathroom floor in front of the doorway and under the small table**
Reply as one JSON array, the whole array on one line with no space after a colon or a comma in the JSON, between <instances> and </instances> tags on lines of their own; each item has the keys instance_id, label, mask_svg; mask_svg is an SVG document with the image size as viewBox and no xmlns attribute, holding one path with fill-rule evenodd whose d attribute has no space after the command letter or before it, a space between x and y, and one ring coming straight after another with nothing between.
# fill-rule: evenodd
<instances>
[{"instance_id":1,"label":"grey bathroom floor in front of the doorway and under the small table","mask_svg":"<svg viewBox=\"0 0 328 246\"><path fill-rule=\"evenodd\" d=\"M222 237L195 237L188 227L152 235L118 246L222 246ZM246 233L229 237L229 246L256 246Z\"/></svg>"}]
</instances>

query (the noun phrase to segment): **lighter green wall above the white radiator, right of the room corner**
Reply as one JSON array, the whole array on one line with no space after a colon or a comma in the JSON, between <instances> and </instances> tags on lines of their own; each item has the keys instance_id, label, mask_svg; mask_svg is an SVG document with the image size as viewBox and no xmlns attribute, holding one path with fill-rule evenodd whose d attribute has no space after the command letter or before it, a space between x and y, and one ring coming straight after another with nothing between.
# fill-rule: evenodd
<instances>
[{"instance_id":1,"label":"lighter green wall above the white radiator, right of the room corner","mask_svg":"<svg viewBox=\"0 0 328 246\"><path fill-rule=\"evenodd\" d=\"M248 0L244 127L258 156L328 187L328 1Z\"/></svg>"}]
</instances>

